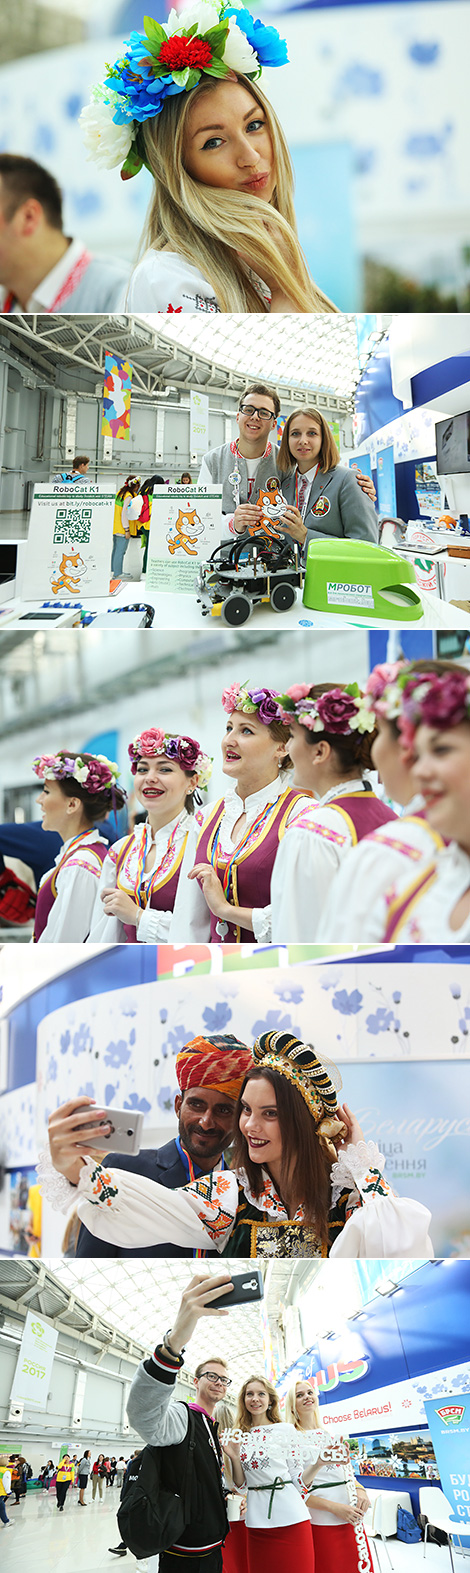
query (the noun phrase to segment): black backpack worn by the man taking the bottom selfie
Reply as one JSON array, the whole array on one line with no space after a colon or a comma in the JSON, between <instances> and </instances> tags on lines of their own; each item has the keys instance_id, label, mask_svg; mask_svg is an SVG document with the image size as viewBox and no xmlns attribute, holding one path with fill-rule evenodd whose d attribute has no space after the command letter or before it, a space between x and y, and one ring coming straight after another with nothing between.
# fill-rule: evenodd
<instances>
[{"instance_id":1,"label":"black backpack worn by the man taking the bottom selfie","mask_svg":"<svg viewBox=\"0 0 470 1573\"><path fill-rule=\"evenodd\" d=\"M168 1551L190 1521L196 1428L190 1409L187 1416L189 1455L181 1493L170 1491L162 1480L167 1447L143 1447L123 1483L119 1534L124 1546L138 1559Z\"/></svg>"}]
</instances>

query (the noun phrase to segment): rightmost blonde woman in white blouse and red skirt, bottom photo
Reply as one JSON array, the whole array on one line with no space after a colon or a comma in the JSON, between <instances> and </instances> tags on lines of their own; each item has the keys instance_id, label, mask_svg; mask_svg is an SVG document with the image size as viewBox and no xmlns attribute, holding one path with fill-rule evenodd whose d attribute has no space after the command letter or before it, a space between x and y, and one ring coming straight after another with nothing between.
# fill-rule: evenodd
<instances>
[{"instance_id":1,"label":"rightmost blonde woman in white blouse and red skirt, bottom photo","mask_svg":"<svg viewBox=\"0 0 470 1573\"><path fill-rule=\"evenodd\" d=\"M373 1559L363 1527L369 1497L357 1485L349 1441L332 1436L322 1427L316 1387L311 1381L297 1381L286 1397L286 1420L318 1460L314 1480L308 1488L314 1564L322 1573L373 1573Z\"/></svg>"}]
</instances>

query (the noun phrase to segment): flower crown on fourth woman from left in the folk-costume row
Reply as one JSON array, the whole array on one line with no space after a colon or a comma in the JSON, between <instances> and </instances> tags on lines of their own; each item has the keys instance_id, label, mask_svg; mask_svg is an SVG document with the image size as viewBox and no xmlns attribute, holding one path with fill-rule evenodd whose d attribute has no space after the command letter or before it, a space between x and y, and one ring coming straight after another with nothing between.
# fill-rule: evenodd
<instances>
[{"instance_id":1,"label":"flower crown on fourth woman from left in the folk-costume row","mask_svg":"<svg viewBox=\"0 0 470 1573\"><path fill-rule=\"evenodd\" d=\"M374 731L376 716L357 683L343 689L327 689L319 698L310 698L310 683L294 683L277 695L283 720L299 720L308 731L329 731L341 738L354 731Z\"/></svg>"}]
</instances>

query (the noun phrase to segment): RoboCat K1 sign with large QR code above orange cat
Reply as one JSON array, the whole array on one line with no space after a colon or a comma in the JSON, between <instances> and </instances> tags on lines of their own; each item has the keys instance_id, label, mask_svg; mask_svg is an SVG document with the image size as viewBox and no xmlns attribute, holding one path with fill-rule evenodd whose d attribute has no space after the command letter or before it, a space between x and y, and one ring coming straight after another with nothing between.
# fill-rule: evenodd
<instances>
[{"instance_id":1,"label":"RoboCat K1 sign with large QR code above orange cat","mask_svg":"<svg viewBox=\"0 0 470 1573\"><path fill-rule=\"evenodd\" d=\"M115 488L35 486L24 601L77 601L110 593Z\"/></svg>"}]
</instances>

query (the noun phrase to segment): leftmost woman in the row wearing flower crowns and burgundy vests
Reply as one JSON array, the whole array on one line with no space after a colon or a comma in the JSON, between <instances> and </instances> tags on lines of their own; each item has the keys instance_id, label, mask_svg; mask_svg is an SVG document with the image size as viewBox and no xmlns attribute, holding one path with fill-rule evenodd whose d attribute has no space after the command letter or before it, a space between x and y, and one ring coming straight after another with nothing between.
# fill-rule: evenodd
<instances>
[{"instance_id":1,"label":"leftmost woman in the row wearing flower crowns and burgundy vests","mask_svg":"<svg viewBox=\"0 0 470 1573\"><path fill-rule=\"evenodd\" d=\"M116 785L118 766L104 755L41 753L33 771L42 782L38 798L42 831L63 840L53 868L38 890L35 941L85 941L107 842L94 831L110 810L123 809L126 793Z\"/></svg>"}]
</instances>

